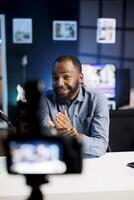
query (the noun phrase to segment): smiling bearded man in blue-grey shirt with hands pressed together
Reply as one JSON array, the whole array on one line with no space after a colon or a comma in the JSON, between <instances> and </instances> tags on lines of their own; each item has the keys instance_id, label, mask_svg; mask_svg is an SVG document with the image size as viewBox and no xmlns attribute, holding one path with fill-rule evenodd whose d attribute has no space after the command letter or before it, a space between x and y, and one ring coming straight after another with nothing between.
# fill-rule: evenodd
<instances>
[{"instance_id":1,"label":"smiling bearded man in blue-grey shirt with hands pressed together","mask_svg":"<svg viewBox=\"0 0 134 200\"><path fill-rule=\"evenodd\" d=\"M79 138L84 157L103 155L109 141L107 100L83 85L82 66L76 57L61 56L54 61L52 86L42 101L43 126Z\"/></svg>"}]
</instances>

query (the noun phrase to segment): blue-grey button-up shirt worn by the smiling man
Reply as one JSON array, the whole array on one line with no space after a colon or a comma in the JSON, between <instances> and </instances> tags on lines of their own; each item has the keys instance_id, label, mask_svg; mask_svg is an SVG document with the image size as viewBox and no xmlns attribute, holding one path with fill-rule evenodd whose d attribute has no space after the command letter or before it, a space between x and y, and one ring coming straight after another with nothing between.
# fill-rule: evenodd
<instances>
[{"instance_id":1,"label":"blue-grey button-up shirt worn by the smiling man","mask_svg":"<svg viewBox=\"0 0 134 200\"><path fill-rule=\"evenodd\" d=\"M85 157L103 155L109 142L109 108L106 97L96 91L80 86L72 103L57 100L53 90L48 91L42 101L43 126L52 120L56 125L58 112L67 110L73 127L82 134Z\"/></svg>"}]
</instances>

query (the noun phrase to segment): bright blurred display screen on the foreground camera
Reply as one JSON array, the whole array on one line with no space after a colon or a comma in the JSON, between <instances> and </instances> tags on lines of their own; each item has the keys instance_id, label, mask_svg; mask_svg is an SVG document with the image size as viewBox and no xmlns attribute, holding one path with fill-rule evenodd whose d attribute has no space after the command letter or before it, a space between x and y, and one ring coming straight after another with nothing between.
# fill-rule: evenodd
<instances>
[{"instance_id":1,"label":"bright blurred display screen on the foreground camera","mask_svg":"<svg viewBox=\"0 0 134 200\"><path fill-rule=\"evenodd\" d=\"M62 160L62 144L57 141L11 140L9 154L9 170L12 173L62 174L66 171L66 164Z\"/></svg>"}]
</instances>

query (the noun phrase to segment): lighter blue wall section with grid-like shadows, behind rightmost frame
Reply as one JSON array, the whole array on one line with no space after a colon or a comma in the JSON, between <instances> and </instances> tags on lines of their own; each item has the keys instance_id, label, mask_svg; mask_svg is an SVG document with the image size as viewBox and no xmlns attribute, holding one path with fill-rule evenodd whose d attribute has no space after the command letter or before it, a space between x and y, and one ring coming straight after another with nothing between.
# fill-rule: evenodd
<instances>
[{"instance_id":1,"label":"lighter blue wall section with grid-like shadows, behind rightmost frame","mask_svg":"<svg viewBox=\"0 0 134 200\"><path fill-rule=\"evenodd\" d=\"M134 108L133 10L134 2L131 0L80 0L79 58L82 63L112 63L117 68L130 69L130 105L124 108ZM116 19L115 44L96 43L98 17Z\"/></svg>"}]
</instances>

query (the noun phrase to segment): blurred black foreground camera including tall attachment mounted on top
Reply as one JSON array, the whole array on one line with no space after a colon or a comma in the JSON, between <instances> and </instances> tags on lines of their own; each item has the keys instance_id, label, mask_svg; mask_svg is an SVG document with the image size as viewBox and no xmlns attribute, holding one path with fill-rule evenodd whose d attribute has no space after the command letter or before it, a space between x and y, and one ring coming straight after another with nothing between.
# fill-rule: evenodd
<instances>
[{"instance_id":1,"label":"blurred black foreground camera including tall attachment mounted on top","mask_svg":"<svg viewBox=\"0 0 134 200\"><path fill-rule=\"evenodd\" d=\"M81 173L82 144L79 139L53 135L56 129L40 126L42 88L40 81L24 85L26 101L18 102L16 134L5 140L8 172L24 175Z\"/></svg>"}]
</instances>

